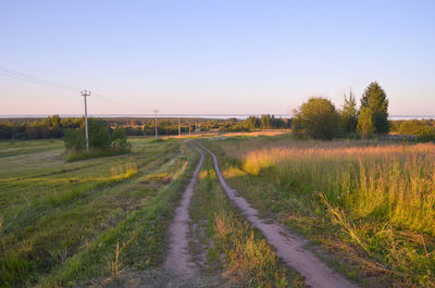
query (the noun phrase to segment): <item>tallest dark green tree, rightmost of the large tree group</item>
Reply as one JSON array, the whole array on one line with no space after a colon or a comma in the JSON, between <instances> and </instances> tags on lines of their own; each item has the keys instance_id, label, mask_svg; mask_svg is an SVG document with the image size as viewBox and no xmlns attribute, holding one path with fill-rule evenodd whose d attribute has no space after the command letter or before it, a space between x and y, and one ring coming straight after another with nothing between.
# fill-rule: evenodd
<instances>
[{"instance_id":1,"label":"tallest dark green tree, rightmost of the large tree group","mask_svg":"<svg viewBox=\"0 0 435 288\"><path fill-rule=\"evenodd\" d=\"M372 111L372 121L376 133L388 133L388 99L385 91L372 82L361 98L361 110L368 108Z\"/></svg>"}]
</instances>

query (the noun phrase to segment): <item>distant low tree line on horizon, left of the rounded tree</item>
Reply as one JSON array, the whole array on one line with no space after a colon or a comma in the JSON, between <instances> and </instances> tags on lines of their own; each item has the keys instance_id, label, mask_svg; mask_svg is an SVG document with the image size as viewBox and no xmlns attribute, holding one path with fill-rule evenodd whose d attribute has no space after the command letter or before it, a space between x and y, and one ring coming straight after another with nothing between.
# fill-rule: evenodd
<instances>
[{"instance_id":1,"label":"distant low tree line on horizon, left of the rounded tree","mask_svg":"<svg viewBox=\"0 0 435 288\"><path fill-rule=\"evenodd\" d=\"M152 117L133 118L101 118L114 129L124 127L127 136L153 136L156 122ZM60 117L59 115L46 118L9 118L0 122L0 139L50 139L63 138L67 130L84 126L84 117ZM256 129L289 128L290 120L274 115L249 116L246 120L226 118L182 118L181 132L188 134L196 130L209 132L250 132ZM159 135L177 135L178 118L158 118Z\"/></svg>"}]
</instances>

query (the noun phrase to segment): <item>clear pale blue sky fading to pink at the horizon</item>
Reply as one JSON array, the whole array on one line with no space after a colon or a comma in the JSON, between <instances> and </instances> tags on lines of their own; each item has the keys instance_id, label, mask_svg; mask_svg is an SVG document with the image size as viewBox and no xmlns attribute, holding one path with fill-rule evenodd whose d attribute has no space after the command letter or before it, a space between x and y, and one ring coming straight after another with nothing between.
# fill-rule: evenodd
<instances>
[{"instance_id":1,"label":"clear pale blue sky fading to pink at the horizon","mask_svg":"<svg viewBox=\"0 0 435 288\"><path fill-rule=\"evenodd\" d=\"M284 114L377 80L434 115L435 1L1 0L0 66L116 102L91 114ZM0 115L54 113L83 99L0 75Z\"/></svg>"}]
</instances>

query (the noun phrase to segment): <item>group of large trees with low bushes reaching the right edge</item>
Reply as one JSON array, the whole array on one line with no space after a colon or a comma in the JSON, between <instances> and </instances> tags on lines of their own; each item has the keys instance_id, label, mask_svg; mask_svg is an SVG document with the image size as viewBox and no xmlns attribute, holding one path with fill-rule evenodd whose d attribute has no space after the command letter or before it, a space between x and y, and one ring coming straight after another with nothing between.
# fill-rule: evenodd
<instances>
[{"instance_id":1,"label":"group of large trees with low bushes reaching the right edge","mask_svg":"<svg viewBox=\"0 0 435 288\"><path fill-rule=\"evenodd\" d=\"M388 121L388 99L377 82L364 90L360 107L352 92L345 95L341 109L331 100L312 97L295 110L293 132L298 138L331 140L351 137L369 139L389 132L415 136L420 141L435 140L435 121Z\"/></svg>"}]
</instances>

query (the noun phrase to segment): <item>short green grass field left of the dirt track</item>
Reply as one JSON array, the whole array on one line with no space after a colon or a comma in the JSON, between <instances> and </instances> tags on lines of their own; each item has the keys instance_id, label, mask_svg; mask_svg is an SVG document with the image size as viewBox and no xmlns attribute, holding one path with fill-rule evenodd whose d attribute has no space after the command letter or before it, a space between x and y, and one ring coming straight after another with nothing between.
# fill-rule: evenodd
<instances>
[{"instance_id":1,"label":"short green grass field left of the dirt track","mask_svg":"<svg viewBox=\"0 0 435 288\"><path fill-rule=\"evenodd\" d=\"M24 149L26 142L13 143ZM132 234L123 265L161 261L163 231L194 160L184 140L133 143L129 155L67 163L59 141L45 141L42 151L0 160L3 286L74 286L107 275L113 245ZM1 142L0 151L9 147Z\"/></svg>"}]
</instances>

